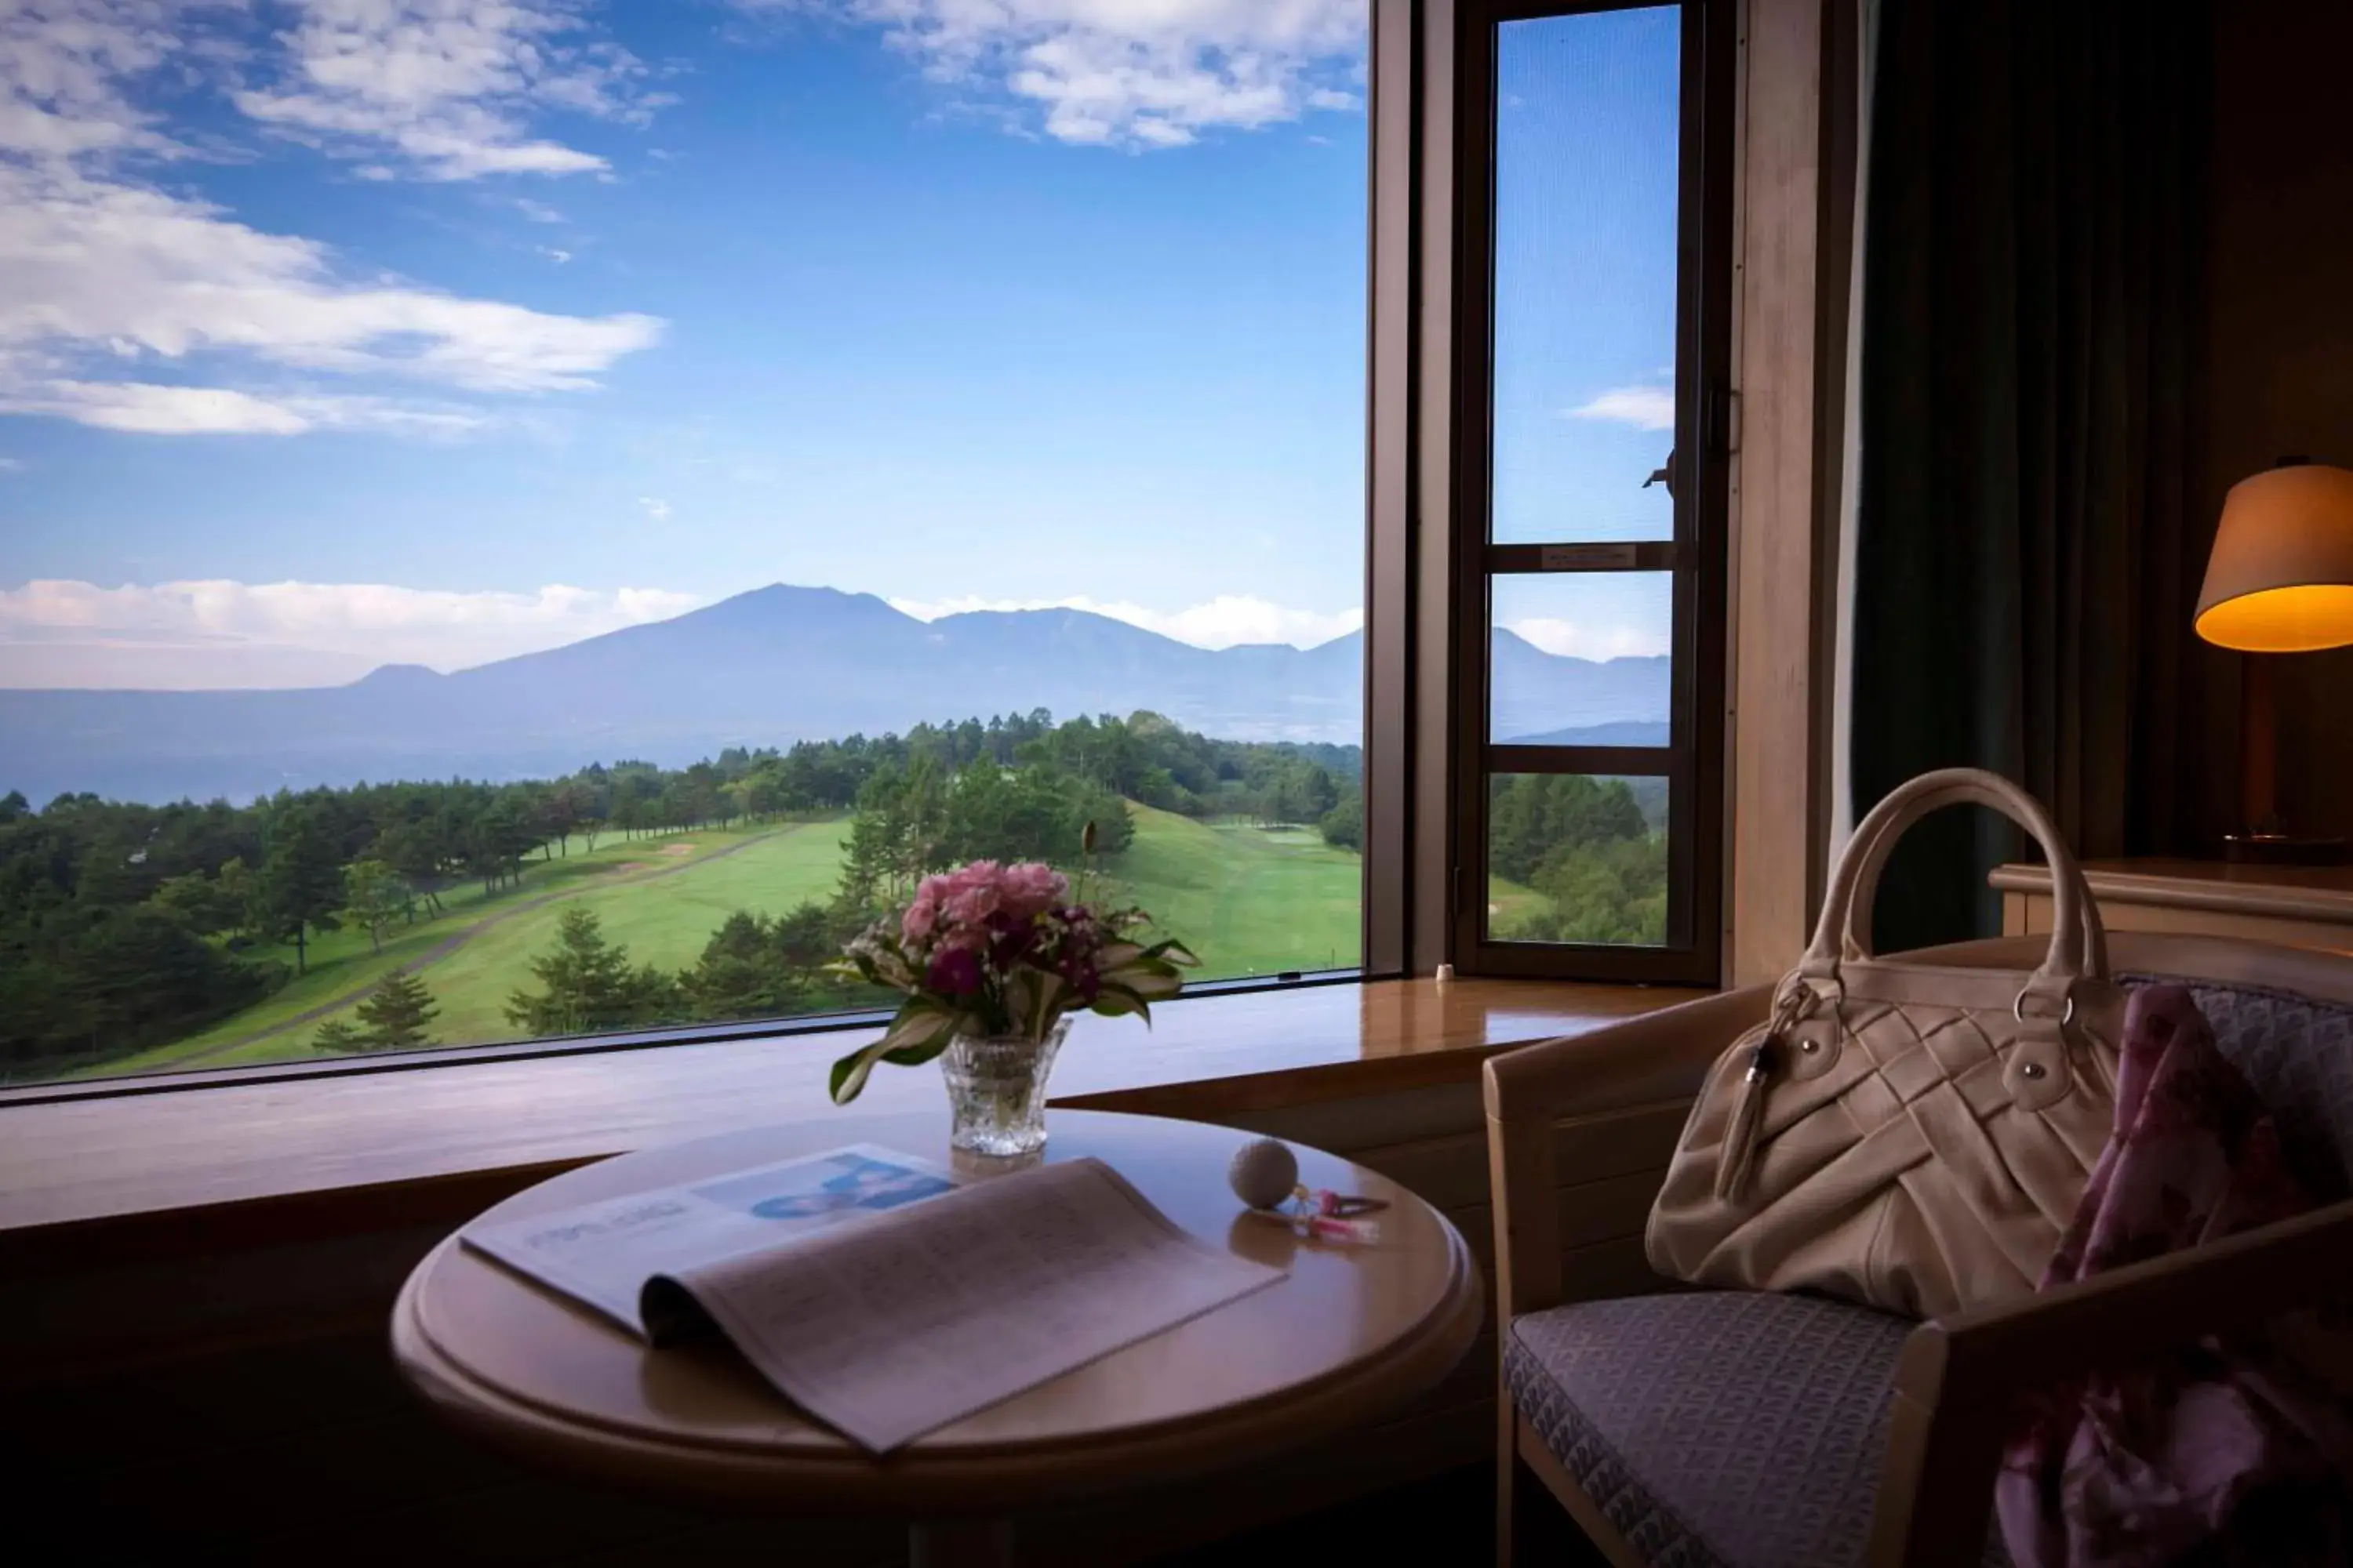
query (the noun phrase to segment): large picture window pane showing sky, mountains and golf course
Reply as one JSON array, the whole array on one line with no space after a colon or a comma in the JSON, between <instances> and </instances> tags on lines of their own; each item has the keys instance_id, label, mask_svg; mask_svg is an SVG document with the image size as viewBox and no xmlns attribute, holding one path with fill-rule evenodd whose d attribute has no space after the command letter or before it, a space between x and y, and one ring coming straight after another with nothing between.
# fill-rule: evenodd
<instances>
[{"instance_id":1,"label":"large picture window pane showing sky, mountains and golf course","mask_svg":"<svg viewBox=\"0 0 2353 1568\"><path fill-rule=\"evenodd\" d=\"M1358 966L1367 33L16 24L0 1081L873 1006L824 959L976 856ZM1586 538L1518 463L1497 541ZM1642 564L1511 623L1680 623Z\"/></svg>"}]
</instances>

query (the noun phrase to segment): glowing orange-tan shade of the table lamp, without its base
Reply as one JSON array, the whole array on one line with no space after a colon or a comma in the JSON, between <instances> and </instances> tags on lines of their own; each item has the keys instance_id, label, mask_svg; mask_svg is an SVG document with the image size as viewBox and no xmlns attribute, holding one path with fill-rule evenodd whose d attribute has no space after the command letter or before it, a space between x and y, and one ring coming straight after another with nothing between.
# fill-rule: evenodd
<instances>
[{"instance_id":1,"label":"glowing orange-tan shade of the table lamp, without its base","mask_svg":"<svg viewBox=\"0 0 2353 1568\"><path fill-rule=\"evenodd\" d=\"M2247 654L2353 642L2353 473L2294 463L2231 487L2198 635Z\"/></svg>"}]
</instances>

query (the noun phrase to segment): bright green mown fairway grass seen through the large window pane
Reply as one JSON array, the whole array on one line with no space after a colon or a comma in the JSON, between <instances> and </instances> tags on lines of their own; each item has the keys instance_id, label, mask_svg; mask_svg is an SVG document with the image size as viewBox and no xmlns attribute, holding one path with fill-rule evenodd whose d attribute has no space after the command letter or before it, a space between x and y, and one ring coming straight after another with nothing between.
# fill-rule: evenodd
<instances>
[{"instance_id":1,"label":"bright green mown fairway grass seen through the large window pane","mask_svg":"<svg viewBox=\"0 0 2353 1568\"><path fill-rule=\"evenodd\" d=\"M1106 860L1104 872L1115 884L1106 891L1144 905L1165 933L1184 938L1202 959L1200 978L1355 966L1362 886L1355 853L1329 849L1301 827L1198 823L1151 806L1132 811L1136 837ZM311 971L266 1001L202 1034L92 1072L308 1058L311 1037L327 1016L252 1037L353 997L395 964L421 959L468 931L464 945L419 971L440 1006L433 1032L442 1044L515 1039L506 999L532 985L529 964L553 945L567 905L595 910L607 940L628 947L631 964L689 969L736 910L784 914L802 900L824 903L835 886L845 835L847 820L831 818L605 842L595 853L534 860L520 889L492 898L478 886L442 893L447 914L400 931L381 954L369 952L358 931L327 933L311 943ZM661 875L652 875L656 870ZM282 957L294 961L292 950ZM351 1004L339 1009L348 1011Z\"/></svg>"}]
</instances>

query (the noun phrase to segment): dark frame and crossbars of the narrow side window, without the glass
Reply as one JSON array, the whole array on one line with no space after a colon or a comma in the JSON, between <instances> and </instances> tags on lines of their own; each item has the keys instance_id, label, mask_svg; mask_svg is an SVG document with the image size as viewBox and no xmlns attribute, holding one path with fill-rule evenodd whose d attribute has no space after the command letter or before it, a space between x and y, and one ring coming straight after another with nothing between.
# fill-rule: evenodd
<instances>
[{"instance_id":1,"label":"dark frame and crossbars of the narrow side window, without the glass","mask_svg":"<svg viewBox=\"0 0 2353 1568\"><path fill-rule=\"evenodd\" d=\"M1558 541L1492 541L1497 31L1506 21L1647 9L1659 0L1457 0L1452 339L1452 875L1449 952L1466 976L1718 985L1722 976L1727 534L1732 498L1732 197L1739 47L1732 0L1680 0L1675 242L1675 534L1614 543L1605 562ZM1666 748L1497 745L1489 733L1497 576L1673 571ZM1668 931L1661 947L1504 943L1487 933L1487 790L1501 773L1668 778Z\"/></svg>"}]
</instances>

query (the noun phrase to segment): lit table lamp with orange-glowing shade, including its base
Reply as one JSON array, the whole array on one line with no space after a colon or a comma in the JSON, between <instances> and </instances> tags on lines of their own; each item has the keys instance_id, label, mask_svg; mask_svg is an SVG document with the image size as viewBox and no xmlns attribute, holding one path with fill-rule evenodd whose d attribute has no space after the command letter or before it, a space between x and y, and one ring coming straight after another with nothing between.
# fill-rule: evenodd
<instances>
[{"instance_id":1,"label":"lit table lamp with orange-glowing shade, including its base","mask_svg":"<svg viewBox=\"0 0 2353 1568\"><path fill-rule=\"evenodd\" d=\"M2198 592L2198 635L2238 649L2242 865L2337 865L2344 839L2299 839L2280 820L2271 670L2275 654L2353 644L2353 473L2308 458L2240 480L2221 505Z\"/></svg>"}]
</instances>

